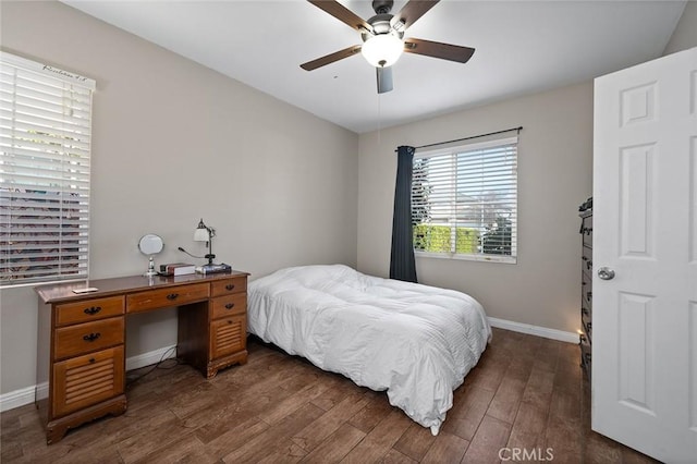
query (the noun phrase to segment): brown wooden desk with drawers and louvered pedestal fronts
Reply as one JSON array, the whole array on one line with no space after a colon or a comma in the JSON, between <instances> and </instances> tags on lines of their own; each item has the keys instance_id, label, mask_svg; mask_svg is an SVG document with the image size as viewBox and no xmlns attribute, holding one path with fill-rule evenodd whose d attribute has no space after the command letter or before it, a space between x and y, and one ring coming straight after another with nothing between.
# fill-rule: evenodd
<instances>
[{"instance_id":1,"label":"brown wooden desk with drawers and louvered pedestal fronts","mask_svg":"<svg viewBox=\"0 0 697 464\"><path fill-rule=\"evenodd\" d=\"M206 378L247 362L247 272L124 277L36 288L39 295L36 404L47 442L126 410L125 316L178 307L176 355ZM48 383L48 391L45 386Z\"/></svg>"}]
</instances>

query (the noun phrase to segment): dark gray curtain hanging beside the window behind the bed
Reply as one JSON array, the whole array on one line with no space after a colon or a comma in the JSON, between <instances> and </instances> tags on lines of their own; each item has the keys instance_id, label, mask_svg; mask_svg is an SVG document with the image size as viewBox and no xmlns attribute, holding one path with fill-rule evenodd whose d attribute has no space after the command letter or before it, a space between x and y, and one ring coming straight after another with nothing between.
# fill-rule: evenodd
<instances>
[{"instance_id":1,"label":"dark gray curtain hanging beside the window behind the bed","mask_svg":"<svg viewBox=\"0 0 697 464\"><path fill-rule=\"evenodd\" d=\"M392 217L392 253L390 279L416 282L416 264L412 233L412 162L414 147L396 149L396 183L394 185L394 216Z\"/></svg>"}]
</instances>

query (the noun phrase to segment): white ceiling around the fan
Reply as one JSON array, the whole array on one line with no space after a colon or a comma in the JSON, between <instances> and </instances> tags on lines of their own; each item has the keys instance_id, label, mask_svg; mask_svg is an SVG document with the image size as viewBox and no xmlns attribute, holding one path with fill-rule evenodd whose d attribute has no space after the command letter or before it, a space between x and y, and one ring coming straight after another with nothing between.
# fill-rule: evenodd
<instances>
[{"instance_id":1,"label":"white ceiling around the fan","mask_svg":"<svg viewBox=\"0 0 697 464\"><path fill-rule=\"evenodd\" d=\"M356 133L578 83L661 56L684 1L443 0L405 37L476 49L466 64L404 53L378 96L360 54L301 63L360 44L303 0L63 0L181 56ZM363 19L370 1L342 0ZM392 13L405 4L396 0Z\"/></svg>"}]
</instances>

